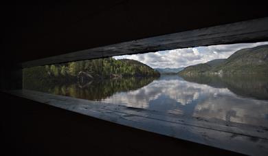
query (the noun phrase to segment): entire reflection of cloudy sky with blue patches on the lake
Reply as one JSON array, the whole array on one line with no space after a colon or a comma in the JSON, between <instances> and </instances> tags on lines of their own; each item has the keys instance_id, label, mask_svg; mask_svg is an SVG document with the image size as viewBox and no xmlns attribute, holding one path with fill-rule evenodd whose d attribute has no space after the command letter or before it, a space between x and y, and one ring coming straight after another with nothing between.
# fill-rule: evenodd
<instances>
[{"instance_id":1,"label":"entire reflection of cloudy sky with blue patches on the lake","mask_svg":"<svg viewBox=\"0 0 268 156\"><path fill-rule=\"evenodd\" d=\"M239 98L229 89L186 82L179 77L155 80L135 91L115 93L103 102L268 126L265 120L267 101Z\"/></svg>"}]
</instances>

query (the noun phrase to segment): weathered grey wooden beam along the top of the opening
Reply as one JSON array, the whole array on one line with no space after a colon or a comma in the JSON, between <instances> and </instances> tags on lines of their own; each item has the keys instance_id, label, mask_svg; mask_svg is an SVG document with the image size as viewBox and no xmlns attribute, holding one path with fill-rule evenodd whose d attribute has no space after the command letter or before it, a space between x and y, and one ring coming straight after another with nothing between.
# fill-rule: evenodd
<instances>
[{"instance_id":1,"label":"weathered grey wooden beam along the top of the opening","mask_svg":"<svg viewBox=\"0 0 268 156\"><path fill-rule=\"evenodd\" d=\"M124 54L142 54L166 49L256 41L268 41L268 17L85 49L79 52L28 61L22 63L22 67L34 67Z\"/></svg>"}]
</instances>

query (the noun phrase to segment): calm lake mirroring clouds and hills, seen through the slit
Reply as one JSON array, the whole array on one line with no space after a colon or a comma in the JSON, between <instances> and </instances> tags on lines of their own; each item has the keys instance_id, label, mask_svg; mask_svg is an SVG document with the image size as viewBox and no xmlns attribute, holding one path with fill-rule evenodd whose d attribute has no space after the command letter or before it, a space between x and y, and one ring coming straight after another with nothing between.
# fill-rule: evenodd
<instances>
[{"instance_id":1,"label":"calm lake mirroring clouds and hills, seen through the slit","mask_svg":"<svg viewBox=\"0 0 268 156\"><path fill-rule=\"evenodd\" d=\"M268 127L267 76L172 75L24 88L168 115Z\"/></svg>"}]
</instances>

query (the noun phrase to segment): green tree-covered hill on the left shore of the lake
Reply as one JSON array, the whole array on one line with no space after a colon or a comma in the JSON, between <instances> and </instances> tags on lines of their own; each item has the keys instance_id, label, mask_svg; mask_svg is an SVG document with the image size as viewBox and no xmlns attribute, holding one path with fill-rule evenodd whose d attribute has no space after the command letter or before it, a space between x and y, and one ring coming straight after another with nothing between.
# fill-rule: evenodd
<instances>
[{"instance_id":1,"label":"green tree-covered hill on the left shore of the lake","mask_svg":"<svg viewBox=\"0 0 268 156\"><path fill-rule=\"evenodd\" d=\"M81 71L84 73L83 76L79 75ZM139 63L137 60L100 58L23 69L23 84L25 86L32 86L38 83L43 85L50 83L65 84L66 82L76 82L80 79L84 81L85 79L123 78L131 76L157 77L159 73L147 65Z\"/></svg>"}]
</instances>

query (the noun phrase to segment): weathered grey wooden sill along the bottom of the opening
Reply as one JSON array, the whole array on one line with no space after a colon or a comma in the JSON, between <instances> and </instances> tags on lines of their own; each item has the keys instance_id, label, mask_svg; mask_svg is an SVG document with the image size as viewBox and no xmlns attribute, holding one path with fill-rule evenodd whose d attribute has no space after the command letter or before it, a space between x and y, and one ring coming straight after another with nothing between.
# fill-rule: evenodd
<instances>
[{"instance_id":1,"label":"weathered grey wooden sill along the bottom of the opening","mask_svg":"<svg viewBox=\"0 0 268 156\"><path fill-rule=\"evenodd\" d=\"M246 155L268 153L268 131L258 126L238 123L225 124L225 122L214 122L186 115L163 114L157 111L118 104L104 104L100 101L57 96L26 89L5 92L93 118L228 151Z\"/></svg>"}]
</instances>

